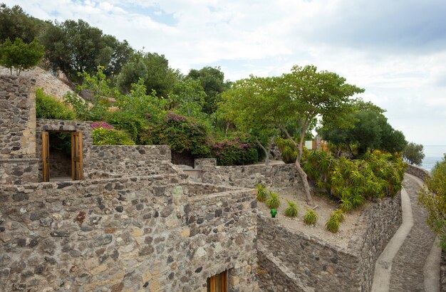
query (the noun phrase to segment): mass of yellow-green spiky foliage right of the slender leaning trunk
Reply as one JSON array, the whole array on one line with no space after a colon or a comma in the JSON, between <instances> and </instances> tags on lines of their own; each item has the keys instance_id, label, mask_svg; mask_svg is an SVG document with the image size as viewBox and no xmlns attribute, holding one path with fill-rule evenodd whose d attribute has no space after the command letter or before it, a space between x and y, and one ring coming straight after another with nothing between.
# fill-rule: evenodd
<instances>
[{"instance_id":1,"label":"mass of yellow-green spiky foliage right of the slender leaning trunk","mask_svg":"<svg viewBox=\"0 0 446 292\"><path fill-rule=\"evenodd\" d=\"M360 160L335 160L323 151L312 151L302 167L320 192L338 199L349 212L366 199L394 196L402 188L405 163L387 154L363 155Z\"/></svg>"}]
</instances>

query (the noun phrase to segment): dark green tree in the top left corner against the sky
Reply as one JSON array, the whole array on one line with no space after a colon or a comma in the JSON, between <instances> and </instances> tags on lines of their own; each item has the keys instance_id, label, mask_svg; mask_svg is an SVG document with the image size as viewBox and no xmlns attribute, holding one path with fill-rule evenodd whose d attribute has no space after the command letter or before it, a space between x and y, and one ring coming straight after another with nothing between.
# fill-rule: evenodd
<instances>
[{"instance_id":1,"label":"dark green tree in the top left corner against the sky","mask_svg":"<svg viewBox=\"0 0 446 292\"><path fill-rule=\"evenodd\" d=\"M9 8L6 4L0 4L0 43L6 38L21 38L25 43L31 43L47 25L26 14L18 5Z\"/></svg>"}]
</instances>

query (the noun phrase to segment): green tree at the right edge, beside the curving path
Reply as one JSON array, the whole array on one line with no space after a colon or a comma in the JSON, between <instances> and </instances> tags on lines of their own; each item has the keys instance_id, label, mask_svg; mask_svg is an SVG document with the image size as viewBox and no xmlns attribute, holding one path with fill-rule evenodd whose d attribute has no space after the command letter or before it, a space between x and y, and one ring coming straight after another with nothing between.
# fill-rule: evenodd
<instances>
[{"instance_id":1,"label":"green tree at the right edge, beside the curving path","mask_svg":"<svg viewBox=\"0 0 446 292\"><path fill-rule=\"evenodd\" d=\"M427 224L440 236L440 246L446 251L446 155L430 172L425 187L418 192L418 201L429 212Z\"/></svg>"}]
</instances>

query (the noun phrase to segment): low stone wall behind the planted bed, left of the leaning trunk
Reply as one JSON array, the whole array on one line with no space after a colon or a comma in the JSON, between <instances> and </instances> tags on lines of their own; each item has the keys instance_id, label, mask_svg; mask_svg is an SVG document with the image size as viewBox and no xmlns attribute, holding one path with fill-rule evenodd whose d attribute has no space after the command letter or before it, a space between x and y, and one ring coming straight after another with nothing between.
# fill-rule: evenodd
<instances>
[{"instance_id":1,"label":"low stone wall behind the planted bed, left of the leaning trunk","mask_svg":"<svg viewBox=\"0 0 446 292\"><path fill-rule=\"evenodd\" d=\"M225 184L238 187L302 188L302 181L294 164L289 165L246 165L214 166L213 160L195 160L195 168L202 170L202 182Z\"/></svg>"}]
</instances>

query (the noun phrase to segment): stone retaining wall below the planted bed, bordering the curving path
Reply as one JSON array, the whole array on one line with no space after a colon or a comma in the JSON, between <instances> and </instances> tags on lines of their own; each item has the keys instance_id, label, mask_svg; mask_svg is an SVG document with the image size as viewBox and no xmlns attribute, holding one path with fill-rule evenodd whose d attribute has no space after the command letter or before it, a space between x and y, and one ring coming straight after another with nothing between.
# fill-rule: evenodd
<instances>
[{"instance_id":1,"label":"stone retaining wall below the planted bed, bordering the curving path","mask_svg":"<svg viewBox=\"0 0 446 292\"><path fill-rule=\"evenodd\" d=\"M261 288L269 291L370 291L375 261L401 224L400 194L371 204L362 234L348 248L333 246L259 214ZM286 290L288 289L288 290ZM272 290L271 290L272 291Z\"/></svg>"}]
</instances>

